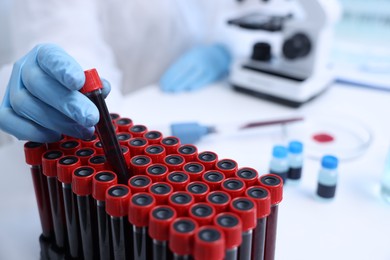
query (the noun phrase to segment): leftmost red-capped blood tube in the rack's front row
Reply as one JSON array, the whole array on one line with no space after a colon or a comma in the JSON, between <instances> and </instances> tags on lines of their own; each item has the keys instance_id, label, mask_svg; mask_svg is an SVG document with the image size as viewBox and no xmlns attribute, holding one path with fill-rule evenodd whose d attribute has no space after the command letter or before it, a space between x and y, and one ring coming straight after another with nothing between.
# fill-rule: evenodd
<instances>
[{"instance_id":1,"label":"leftmost red-capped blood tube in the rack's front row","mask_svg":"<svg viewBox=\"0 0 390 260\"><path fill-rule=\"evenodd\" d=\"M24 144L24 155L26 163L30 165L35 198L37 200L39 218L42 226L42 235L45 240L51 240L53 236L53 222L49 190L47 186L47 178L42 174L42 154L45 151L45 144L35 142L27 142Z\"/></svg>"}]
</instances>

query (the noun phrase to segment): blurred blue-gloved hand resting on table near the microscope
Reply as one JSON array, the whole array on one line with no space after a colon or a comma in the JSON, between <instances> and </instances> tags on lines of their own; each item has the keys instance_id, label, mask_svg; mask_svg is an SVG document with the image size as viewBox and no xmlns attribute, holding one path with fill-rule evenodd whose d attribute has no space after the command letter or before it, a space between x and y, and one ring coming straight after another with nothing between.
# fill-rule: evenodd
<instances>
[{"instance_id":1,"label":"blurred blue-gloved hand resting on table near the microscope","mask_svg":"<svg viewBox=\"0 0 390 260\"><path fill-rule=\"evenodd\" d=\"M163 91L196 90L224 77L231 63L221 44L195 47L180 57L160 79Z\"/></svg>"}]
</instances>

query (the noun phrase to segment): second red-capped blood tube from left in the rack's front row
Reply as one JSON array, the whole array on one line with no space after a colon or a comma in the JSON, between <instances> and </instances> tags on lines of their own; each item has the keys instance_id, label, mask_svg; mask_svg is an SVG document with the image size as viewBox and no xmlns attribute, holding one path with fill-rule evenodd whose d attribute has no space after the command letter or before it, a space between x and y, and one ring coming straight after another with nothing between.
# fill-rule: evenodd
<instances>
[{"instance_id":1,"label":"second red-capped blood tube from left in the rack's front row","mask_svg":"<svg viewBox=\"0 0 390 260\"><path fill-rule=\"evenodd\" d=\"M67 239L64 199L61 183L57 180L57 162L63 155L64 153L59 150L49 150L42 155L42 172L47 178L55 244L58 248L65 248Z\"/></svg>"}]
</instances>

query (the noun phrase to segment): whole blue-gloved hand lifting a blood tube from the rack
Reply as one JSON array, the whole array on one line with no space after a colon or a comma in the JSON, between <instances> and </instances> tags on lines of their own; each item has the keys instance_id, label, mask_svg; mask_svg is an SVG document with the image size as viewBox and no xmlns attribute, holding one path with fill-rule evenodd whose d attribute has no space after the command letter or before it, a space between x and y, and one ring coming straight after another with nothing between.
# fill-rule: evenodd
<instances>
[{"instance_id":1,"label":"whole blue-gloved hand lifting a blood tube from the rack","mask_svg":"<svg viewBox=\"0 0 390 260\"><path fill-rule=\"evenodd\" d=\"M61 134L87 138L99 121L96 106L78 90L81 66L53 44L37 45L18 60L0 106L0 128L20 140L58 141ZM110 86L103 80L103 95Z\"/></svg>"}]
</instances>

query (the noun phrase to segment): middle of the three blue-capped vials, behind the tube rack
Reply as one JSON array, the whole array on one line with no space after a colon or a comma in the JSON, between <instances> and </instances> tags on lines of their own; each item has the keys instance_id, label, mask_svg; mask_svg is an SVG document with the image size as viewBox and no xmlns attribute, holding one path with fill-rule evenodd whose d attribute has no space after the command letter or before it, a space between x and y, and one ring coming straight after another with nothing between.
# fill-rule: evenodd
<instances>
[{"instance_id":1,"label":"middle of the three blue-capped vials, behind the tube rack","mask_svg":"<svg viewBox=\"0 0 390 260\"><path fill-rule=\"evenodd\" d=\"M289 170L287 178L298 181L302 176L303 166L303 144L299 141L291 141L288 144Z\"/></svg>"}]
</instances>

